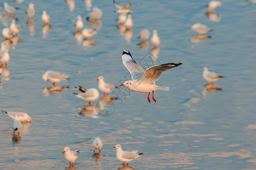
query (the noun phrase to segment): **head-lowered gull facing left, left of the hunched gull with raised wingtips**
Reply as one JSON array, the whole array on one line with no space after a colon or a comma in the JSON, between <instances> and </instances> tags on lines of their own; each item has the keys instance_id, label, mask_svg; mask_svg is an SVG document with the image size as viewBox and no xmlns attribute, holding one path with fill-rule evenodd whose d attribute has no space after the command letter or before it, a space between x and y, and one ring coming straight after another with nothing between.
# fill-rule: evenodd
<instances>
[{"instance_id":1,"label":"head-lowered gull facing left, left of the hunched gull with raised wingtips","mask_svg":"<svg viewBox=\"0 0 256 170\"><path fill-rule=\"evenodd\" d=\"M61 80L69 80L68 75L60 74L59 72L52 70L46 71L42 78L45 82L49 82L49 80L51 80L52 86L55 86L55 82L59 83Z\"/></svg>"}]
</instances>

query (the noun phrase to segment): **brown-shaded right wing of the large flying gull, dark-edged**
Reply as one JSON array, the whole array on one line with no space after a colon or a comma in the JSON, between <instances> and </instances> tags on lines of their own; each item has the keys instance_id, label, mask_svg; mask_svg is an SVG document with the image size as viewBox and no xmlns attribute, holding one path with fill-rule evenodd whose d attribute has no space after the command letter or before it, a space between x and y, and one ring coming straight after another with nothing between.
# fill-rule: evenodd
<instances>
[{"instance_id":1,"label":"brown-shaded right wing of the large flying gull, dark-edged","mask_svg":"<svg viewBox=\"0 0 256 170\"><path fill-rule=\"evenodd\" d=\"M145 71L141 80L139 80L139 81L147 82L150 84L155 84L155 81L157 81L160 78L160 76L163 74L164 71L170 70L170 69L180 66L180 65L182 65L182 63L178 62L178 63L165 63L162 65L156 65L156 66L149 67Z\"/></svg>"}]
</instances>

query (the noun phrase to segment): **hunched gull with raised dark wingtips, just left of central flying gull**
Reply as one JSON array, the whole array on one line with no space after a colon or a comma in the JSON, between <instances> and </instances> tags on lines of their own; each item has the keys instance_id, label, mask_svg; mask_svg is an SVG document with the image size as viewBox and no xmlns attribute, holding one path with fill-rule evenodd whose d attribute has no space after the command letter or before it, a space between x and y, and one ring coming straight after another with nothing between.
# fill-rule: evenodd
<instances>
[{"instance_id":1,"label":"hunched gull with raised dark wingtips, just left of central flying gull","mask_svg":"<svg viewBox=\"0 0 256 170\"><path fill-rule=\"evenodd\" d=\"M88 90L82 86L76 87L77 90L81 91L80 94L75 94L77 97L87 100L88 104L91 104L91 101L97 100L100 95L96 88L89 88Z\"/></svg>"}]
</instances>

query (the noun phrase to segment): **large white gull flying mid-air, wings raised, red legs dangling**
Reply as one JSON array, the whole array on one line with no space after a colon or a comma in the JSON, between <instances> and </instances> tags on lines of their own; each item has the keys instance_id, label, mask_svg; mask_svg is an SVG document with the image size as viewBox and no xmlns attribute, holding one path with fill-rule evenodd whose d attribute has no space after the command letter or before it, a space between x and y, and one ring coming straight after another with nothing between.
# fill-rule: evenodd
<instances>
[{"instance_id":1,"label":"large white gull flying mid-air, wings raised, red legs dangling","mask_svg":"<svg viewBox=\"0 0 256 170\"><path fill-rule=\"evenodd\" d=\"M120 86L126 86L130 90L148 93L147 100L150 103L150 93L152 92L152 99L154 98L154 91L156 90L169 90L169 87L156 86L157 81L164 71L170 70L174 67L182 65L182 63L165 63L148 68L145 72L141 66L131 57L131 53L124 50L122 53L123 65L129 70L132 80L128 80Z\"/></svg>"}]
</instances>

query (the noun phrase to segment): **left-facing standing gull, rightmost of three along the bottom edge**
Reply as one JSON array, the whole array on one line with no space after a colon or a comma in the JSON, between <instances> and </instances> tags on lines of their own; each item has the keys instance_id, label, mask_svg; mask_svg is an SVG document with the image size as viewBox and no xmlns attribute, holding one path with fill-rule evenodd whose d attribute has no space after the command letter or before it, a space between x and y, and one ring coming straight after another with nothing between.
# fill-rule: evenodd
<instances>
[{"instance_id":1,"label":"left-facing standing gull, rightmost of three along the bottom edge","mask_svg":"<svg viewBox=\"0 0 256 170\"><path fill-rule=\"evenodd\" d=\"M128 166L128 162L138 158L139 156L143 155L143 153L138 154L138 150L134 151L123 151L121 145L115 145L113 148L117 148L117 159L123 162L123 165Z\"/></svg>"}]
</instances>

